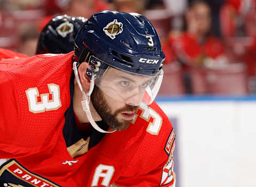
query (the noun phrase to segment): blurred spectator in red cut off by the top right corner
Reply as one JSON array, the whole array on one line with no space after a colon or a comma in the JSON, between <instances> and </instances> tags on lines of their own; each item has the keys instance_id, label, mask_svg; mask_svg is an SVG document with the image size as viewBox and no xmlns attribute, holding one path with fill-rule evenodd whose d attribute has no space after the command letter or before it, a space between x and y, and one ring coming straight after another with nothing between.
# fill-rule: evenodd
<instances>
[{"instance_id":1,"label":"blurred spectator in red cut off by the top right corner","mask_svg":"<svg viewBox=\"0 0 256 187\"><path fill-rule=\"evenodd\" d=\"M256 75L256 0L228 0L221 8L221 32L230 61L243 61Z\"/></svg>"}]
</instances>

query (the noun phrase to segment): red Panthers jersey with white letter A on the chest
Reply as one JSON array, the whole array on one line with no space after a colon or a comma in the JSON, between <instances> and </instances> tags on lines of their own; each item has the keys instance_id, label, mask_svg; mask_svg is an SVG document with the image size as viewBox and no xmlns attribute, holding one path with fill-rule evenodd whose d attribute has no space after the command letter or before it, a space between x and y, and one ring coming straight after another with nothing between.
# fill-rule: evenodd
<instances>
[{"instance_id":1,"label":"red Panthers jersey with white letter A on the chest","mask_svg":"<svg viewBox=\"0 0 256 187\"><path fill-rule=\"evenodd\" d=\"M141 105L124 131L105 134L93 130L89 141L78 130L70 99L73 55L1 61L0 183L175 186L175 134L155 102ZM15 65L6 68L6 64ZM70 148L81 140L86 143L79 150L87 150L73 158Z\"/></svg>"}]
</instances>

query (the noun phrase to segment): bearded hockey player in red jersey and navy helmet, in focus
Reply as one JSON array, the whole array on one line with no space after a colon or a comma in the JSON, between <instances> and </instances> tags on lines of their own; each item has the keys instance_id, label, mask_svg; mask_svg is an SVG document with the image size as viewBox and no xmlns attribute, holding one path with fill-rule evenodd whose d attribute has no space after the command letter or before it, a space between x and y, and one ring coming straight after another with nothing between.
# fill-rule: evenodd
<instances>
[{"instance_id":1,"label":"bearded hockey player in red jersey and navy helmet, in focus","mask_svg":"<svg viewBox=\"0 0 256 187\"><path fill-rule=\"evenodd\" d=\"M164 53L144 16L96 13L74 52L20 60L0 64L5 186L175 186L175 134L154 101Z\"/></svg>"}]
</instances>

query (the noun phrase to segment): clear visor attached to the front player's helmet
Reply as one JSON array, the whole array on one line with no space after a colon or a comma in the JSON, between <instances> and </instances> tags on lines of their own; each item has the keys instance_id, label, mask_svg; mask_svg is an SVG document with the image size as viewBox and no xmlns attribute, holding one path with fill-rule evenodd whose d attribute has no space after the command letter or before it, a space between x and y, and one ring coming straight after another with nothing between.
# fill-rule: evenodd
<instances>
[{"instance_id":1,"label":"clear visor attached to the front player's helmet","mask_svg":"<svg viewBox=\"0 0 256 187\"><path fill-rule=\"evenodd\" d=\"M163 79L162 70L154 77L127 73L110 66L101 74L91 72L95 86L109 97L133 106L138 106L141 102L151 104Z\"/></svg>"}]
</instances>

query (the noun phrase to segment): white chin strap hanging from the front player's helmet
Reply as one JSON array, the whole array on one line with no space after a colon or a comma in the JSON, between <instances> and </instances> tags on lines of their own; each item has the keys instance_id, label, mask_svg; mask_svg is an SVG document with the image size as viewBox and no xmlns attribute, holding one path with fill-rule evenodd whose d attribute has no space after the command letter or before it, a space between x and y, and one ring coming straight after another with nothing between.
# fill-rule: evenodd
<instances>
[{"instance_id":1,"label":"white chin strap hanging from the front player's helmet","mask_svg":"<svg viewBox=\"0 0 256 187\"><path fill-rule=\"evenodd\" d=\"M74 73L75 73L75 78L76 78L76 82L78 84L78 87L80 88L80 90L82 91L82 101L81 101L81 104L82 104L82 108L83 108L83 111L85 112L89 122L91 123L91 125L93 126L93 128L99 132L102 132L102 133L112 133L112 132L115 132L116 130L113 130L113 131L105 131L103 129L101 129L99 127L99 125L97 123L95 123L95 121L93 120L93 117L92 117L92 114L91 114L91 111L90 111L90 106L89 106L89 103L90 103L90 96L92 94L92 90L94 88L94 77L92 77L91 79L91 83L90 83L90 90L89 92L87 92L85 94L84 90L83 90L83 87L82 87L82 84L80 82L80 79L79 79L79 75L78 75L78 71L77 71L77 66L76 66L77 62L74 62L73 63L73 70L74 70Z\"/></svg>"}]
</instances>

